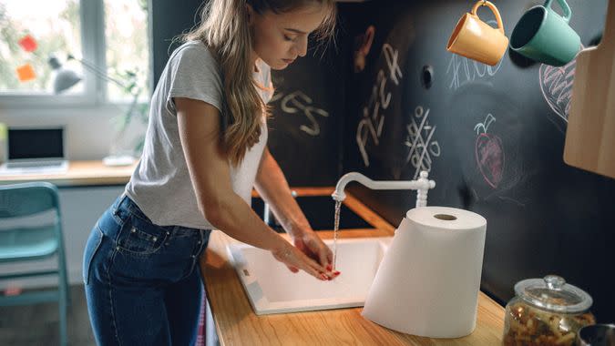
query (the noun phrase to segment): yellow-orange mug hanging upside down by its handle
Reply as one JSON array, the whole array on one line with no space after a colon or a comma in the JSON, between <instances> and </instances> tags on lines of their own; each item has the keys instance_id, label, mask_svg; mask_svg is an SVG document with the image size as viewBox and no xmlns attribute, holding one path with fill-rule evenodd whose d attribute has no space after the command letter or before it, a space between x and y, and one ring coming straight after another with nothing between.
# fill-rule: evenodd
<instances>
[{"instance_id":1,"label":"yellow-orange mug hanging upside down by its handle","mask_svg":"<svg viewBox=\"0 0 615 346\"><path fill-rule=\"evenodd\" d=\"M497 28L480 20L477 10L481 5L489 7L496 15ZM504 34L502 17L496 5L480 0L472 7L471 13L466 13L459 19L448 39L446 50L494 66L504 56L507 46L508 37Z\"/></svg>"}]
</instances>

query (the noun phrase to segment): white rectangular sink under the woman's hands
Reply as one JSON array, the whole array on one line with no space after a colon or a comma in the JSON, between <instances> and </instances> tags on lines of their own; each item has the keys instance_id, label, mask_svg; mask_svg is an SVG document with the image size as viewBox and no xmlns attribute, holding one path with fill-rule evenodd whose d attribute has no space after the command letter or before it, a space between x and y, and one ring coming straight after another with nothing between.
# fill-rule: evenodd
<instances>
[{"instance_id":1,"label":"white rectangular sink under the woman's hands","mask_svg":"<svg viewBox=\"0 0 615 346\"><path fill-rule=\"evenodd\" d=\"M267 250L247 244L227 247L231 263L257 315L364 306L384 252L393 238L337 240L335 280L292 273ZM333 249L333 239L324 240Z\"/></svg>"}]
</instances>

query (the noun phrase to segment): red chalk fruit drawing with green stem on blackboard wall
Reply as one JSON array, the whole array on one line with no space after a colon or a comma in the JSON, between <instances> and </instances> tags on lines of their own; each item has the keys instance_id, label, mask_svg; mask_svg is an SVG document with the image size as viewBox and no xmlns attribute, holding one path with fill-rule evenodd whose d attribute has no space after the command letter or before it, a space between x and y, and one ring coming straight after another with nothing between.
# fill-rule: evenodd
<instances>
[{"instance_id":1,"label":"red chalk fruit drawing with green stem on blackboard wall","mask_svg":"<svg viewBox=\"0 0 615 346\"><path fill-rule=\"evenodd\" d=\"M478 135L475 155L478 169L483 178L490 187L497 188L502 181L506 160L502 139L494 134L487 133L487 129L493 121L496 121L496 118L489 114L485 123L479 123L474 127Z\"/></svg>"}]
</instances>

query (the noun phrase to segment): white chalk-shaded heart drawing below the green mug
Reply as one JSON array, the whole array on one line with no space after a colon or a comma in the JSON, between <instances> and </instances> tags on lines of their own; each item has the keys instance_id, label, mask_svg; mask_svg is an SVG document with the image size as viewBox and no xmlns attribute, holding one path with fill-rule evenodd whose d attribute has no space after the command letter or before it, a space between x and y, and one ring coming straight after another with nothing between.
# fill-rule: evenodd
<instances>
[{"instance_id":1,"label":"white chalk-shaded heart drawing below the green mug","mask_svg":"<svg viewBox=\"0 0 615 346\"><path fill-rule=\"evenodd\" d=\"M553 112L567 123L576 68L577 59L573 59L565 66L559 67L542 64L538 73L542 96Z\"/></svg>"}]
</instances>

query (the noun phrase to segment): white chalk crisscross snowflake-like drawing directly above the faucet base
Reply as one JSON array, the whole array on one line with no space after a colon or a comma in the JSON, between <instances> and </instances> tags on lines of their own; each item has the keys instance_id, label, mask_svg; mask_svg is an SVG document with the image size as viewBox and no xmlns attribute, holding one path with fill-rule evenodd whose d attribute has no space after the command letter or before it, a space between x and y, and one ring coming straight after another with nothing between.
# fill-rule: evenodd
<instances>
[{"instance_id":1,"label":"white chalk crisscross snowflake-like drawing directly above the faucet base","mask_svg":"<svg viewBox=\"0 0 615 346\"><path fill-rule=\"evenodd\" d=\"M433 139L436 126L429 125L427 117L429 117L429 108L425 110L418 106L415 108L412 121L405 127L408 134L404 144L409 148L405 163L410 163L415 168L414 178L418 178L422 170L430 171L432 156L437 158L441 153L440 144ZM420 124L417 121L420 121Z\"/></svg>"}]
</instances>

